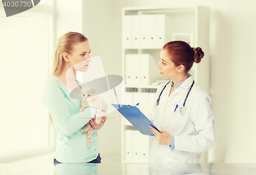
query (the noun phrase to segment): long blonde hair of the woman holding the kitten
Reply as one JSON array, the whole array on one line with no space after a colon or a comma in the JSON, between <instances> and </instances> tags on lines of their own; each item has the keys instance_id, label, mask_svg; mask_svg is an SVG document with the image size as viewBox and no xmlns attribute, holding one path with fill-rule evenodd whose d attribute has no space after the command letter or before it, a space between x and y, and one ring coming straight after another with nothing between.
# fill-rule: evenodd
<instances>
[{"instance_id":1,"label":"long blonde hair of the woman holding the kitten","mask_svg":"<svg viewBox=\"0 0 256 175\"><path fill-rule=\"evenodd\" d=\"M57 47L53 56L53 70L51 76L59 75L64 66L65 60L63 59L63 53L72 53L74 45L88 41L87 37L78 32L67 32L59 37ZM52 116L50 116L50 123L53 125Z\"/></svg>"}]
</instances>

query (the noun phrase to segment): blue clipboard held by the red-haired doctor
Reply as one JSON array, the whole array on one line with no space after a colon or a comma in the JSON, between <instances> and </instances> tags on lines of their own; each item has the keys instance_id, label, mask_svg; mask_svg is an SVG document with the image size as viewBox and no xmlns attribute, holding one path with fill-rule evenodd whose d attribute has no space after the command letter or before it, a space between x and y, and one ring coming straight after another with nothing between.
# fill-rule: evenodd
<instances>
[{"instance_id":1,"label":"blue clipboard held by the red-haired doctor","mask_svg":"<svg viewBox=\"0 0 256 175\"><path fill-rule=\"evenodd\" d=\"M150 125L157 129L157 127L146 118L146 116L136 107L129 105L112 104L118 112L120 112L140 133L144 135L152 135ZM158 130L158 129L157 129ZM158 130L159 131L159 130ZM160 131L159 131L160 132Z\"/></svg>"}]
</instances>

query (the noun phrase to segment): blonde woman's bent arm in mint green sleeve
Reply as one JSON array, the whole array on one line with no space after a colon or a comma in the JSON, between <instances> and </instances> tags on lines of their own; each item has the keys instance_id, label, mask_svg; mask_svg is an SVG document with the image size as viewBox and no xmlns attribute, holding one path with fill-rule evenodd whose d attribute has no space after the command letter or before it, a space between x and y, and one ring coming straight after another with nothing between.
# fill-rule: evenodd
<instances>
[{"instance_id":1,"label":"blonde woman's bent arm in mint green sleeve","mask_svg":"<svg viewBox=\"0 0 256 175\"><path fill-rule=\"evenodd\" d=\"M57 84L52 82L46 82L43 99L52 116L53 123L66 135L71 135L86 125L97 110L95 107L88 107L82 112L70 115L65 93Z\"/></svg>"}]
</instances>

